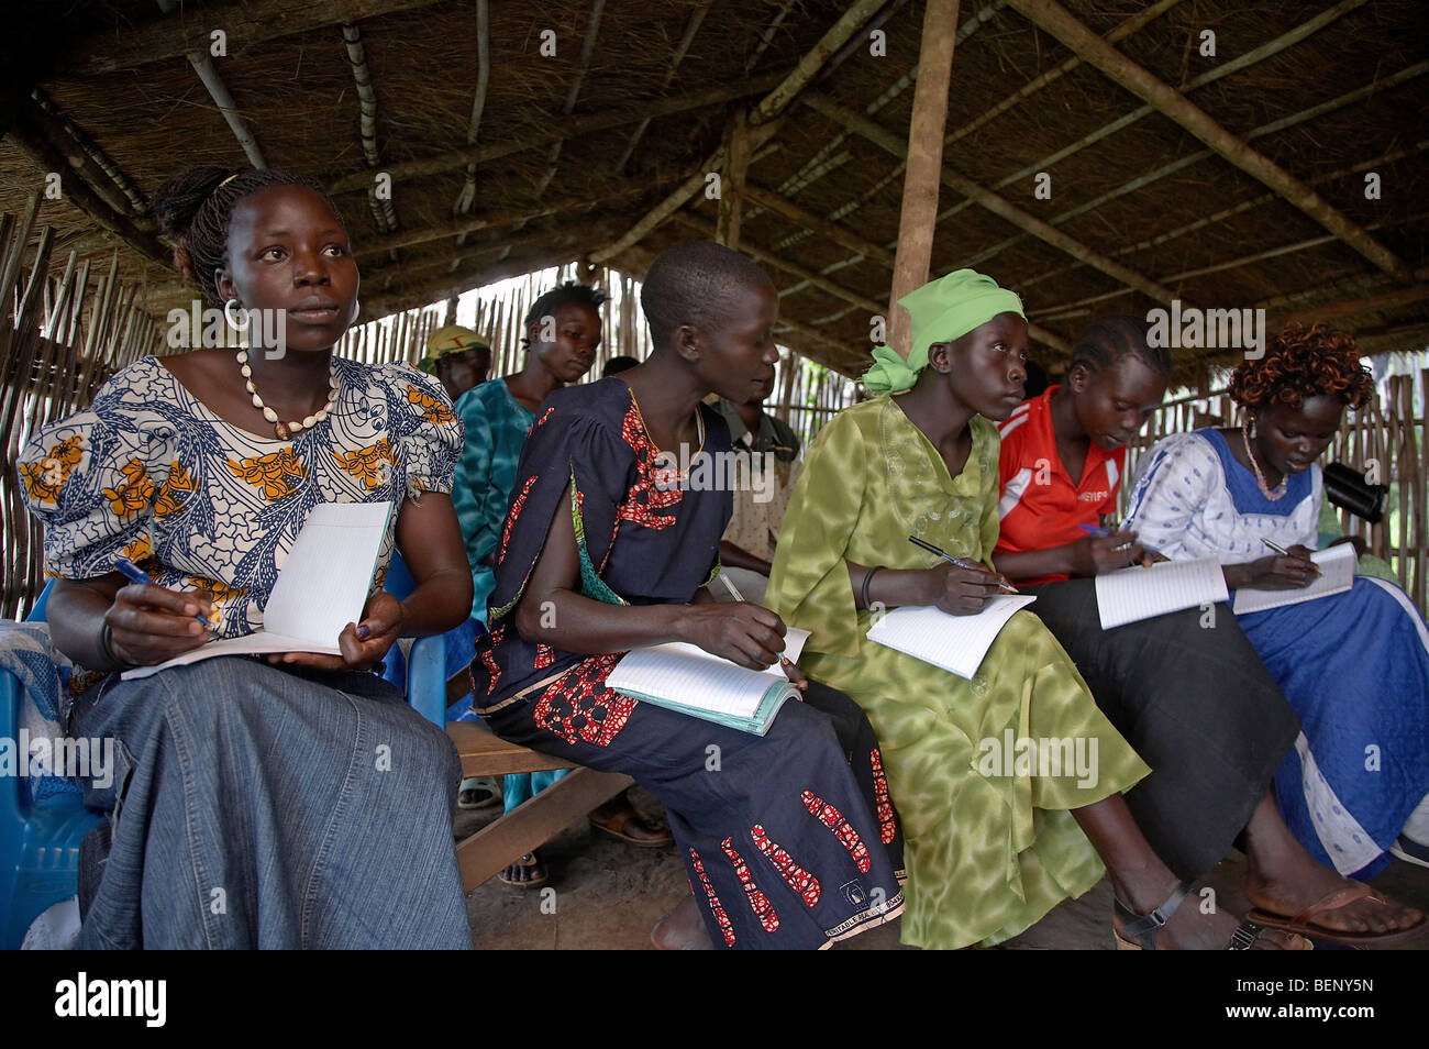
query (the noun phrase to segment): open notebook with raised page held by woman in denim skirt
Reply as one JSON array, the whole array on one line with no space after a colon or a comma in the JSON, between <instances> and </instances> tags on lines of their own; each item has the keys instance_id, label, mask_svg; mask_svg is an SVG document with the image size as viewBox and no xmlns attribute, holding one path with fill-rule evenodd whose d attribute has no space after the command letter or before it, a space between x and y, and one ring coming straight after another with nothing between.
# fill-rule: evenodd
<instances>
[{"instance_id":1,"label":"open notebook with raised page held by woman in denim skirt","mask_svg":"<svg viewBox=\"0 0 1429 1049\"><path fill-rule=\"evenodd\" d=\"M123 677L149 677L170 666L187 666L214 656L266 652L342 655L337 635L362 617L390 514L390 500L319 503L307 514L277 573L263 609L262 630L209 642L167 663L126 670Z\"/></svg>"}]
</instances>

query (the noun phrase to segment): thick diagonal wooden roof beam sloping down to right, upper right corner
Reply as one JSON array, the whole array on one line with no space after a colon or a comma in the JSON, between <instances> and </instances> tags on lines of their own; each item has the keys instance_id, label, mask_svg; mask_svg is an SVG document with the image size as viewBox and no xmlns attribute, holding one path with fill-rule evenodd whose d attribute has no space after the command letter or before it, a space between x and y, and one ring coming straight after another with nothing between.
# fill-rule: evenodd
<instances>
[{"instance_id":1,"label":"thick diagonal wooden roof beam sloping down to right, upper right corner","mask_svg":"<svg viewBox=\"0 0 1429 1049\"><path fill-rule=\"evenodd\" d=\"M1413 272L1409 266L1336 210L1309 184L1296 179L1263 153L1250 149L1175 87L1152 76L1150 71L1096 36L1059 3L1055 0L1010 0L1010 6L1117 84L1195 134L1242 171L1269 186L1293 207L1369 259L1376 267L1400 283L1413 283Z\"/></svg>"}]
</instances>

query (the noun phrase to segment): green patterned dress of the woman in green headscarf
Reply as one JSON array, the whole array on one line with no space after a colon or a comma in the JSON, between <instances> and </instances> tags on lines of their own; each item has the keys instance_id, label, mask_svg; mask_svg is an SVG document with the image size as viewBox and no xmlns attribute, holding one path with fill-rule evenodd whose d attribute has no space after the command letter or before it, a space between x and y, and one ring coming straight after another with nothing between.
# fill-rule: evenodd
<instances>
[{"instance_id":1,"label":"green patterned dress of the woman in green headscarf","mask_svg":"<svg viewBox=\"0 0 1429 1049\"><path fill-rule=\"evenodd\" d=\"M803 670L867 712L903 819L909 870L903 940L990 946L1090 889L1102 863L1069 809L1129 789L1149 769L1097 710L1040 620L1017 612L972 680L865 637L846 560L927 569L952 555L987 562L997 540L997 429L973 416L973 447L952 477L889 396L842 412L819 433L789 503L767 603L813 630ZM1032 606L1036 607L1036 606ZM1082 739L1095 783L980 762L1013 740ZM1092 747L1096 747L1093 752ZM1082 783L1086 783L1082 786Z\"/></svg>"}]
</instances>

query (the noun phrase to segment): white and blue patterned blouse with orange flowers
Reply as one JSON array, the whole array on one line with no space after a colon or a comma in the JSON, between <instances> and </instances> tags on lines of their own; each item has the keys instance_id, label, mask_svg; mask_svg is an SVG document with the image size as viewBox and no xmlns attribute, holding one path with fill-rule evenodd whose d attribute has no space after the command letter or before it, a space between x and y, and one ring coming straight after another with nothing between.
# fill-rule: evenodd
<instances>
[{"instance_id":1,"label":"white and blue patterned blouse with orange flowers","mask_svg":"<svg viewBox=\"0 0 1429 1049\"><path fill-rule=\"evenodd\" d=\"M44 523L46 570L93 579L127 557L161 586L210 590L214 636L259 630L316 504L392 500L400 509L403 499L452 490L462 422L442 384L410 364L334 357L333 367L333 410L292 440L224 422L156 357L126 367L20 456L24 500Z\"/></svg>"}]
</instances>

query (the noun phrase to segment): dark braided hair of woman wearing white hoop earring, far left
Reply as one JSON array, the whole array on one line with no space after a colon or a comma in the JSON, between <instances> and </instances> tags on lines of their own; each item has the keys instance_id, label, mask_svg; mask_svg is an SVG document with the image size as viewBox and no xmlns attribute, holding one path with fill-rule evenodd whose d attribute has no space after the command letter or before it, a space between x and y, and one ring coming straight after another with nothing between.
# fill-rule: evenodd
<instances>
[{"instance_id":1,"label":"dark braided hair of woman wearing white hoop earring, far left","mask_svg":"<svg viewBox=\"0 0 1429 1049\"><path fill-rule=\"evenodd\" d=\"M211 306L223 306L214 270L229 264L229 223L244 197L276 186L312 190L342 222L342 213L314 180L302 174L260 167L190 167L159 187L153 212L174 242L174 266L196 284Z\"/></svg>"}]
</instances>

